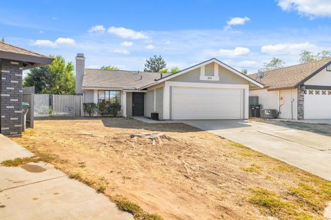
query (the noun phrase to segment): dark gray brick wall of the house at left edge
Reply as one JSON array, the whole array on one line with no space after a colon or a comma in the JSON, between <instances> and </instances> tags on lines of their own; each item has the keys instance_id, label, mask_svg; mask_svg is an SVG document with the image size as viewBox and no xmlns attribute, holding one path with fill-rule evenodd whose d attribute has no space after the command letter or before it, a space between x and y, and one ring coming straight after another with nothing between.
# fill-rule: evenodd
<instances>
[{"instance_id":1,"label":"dark gray brick wall of the house at left edge","mask_svg":"<svg viewBox=\"0 0 331 220\"><path fill-rule=\"evenodd\" d=\"M18 61L0 61L0 131L3 135L22 133L22 69Z\"/></svg>"}]
</instances>

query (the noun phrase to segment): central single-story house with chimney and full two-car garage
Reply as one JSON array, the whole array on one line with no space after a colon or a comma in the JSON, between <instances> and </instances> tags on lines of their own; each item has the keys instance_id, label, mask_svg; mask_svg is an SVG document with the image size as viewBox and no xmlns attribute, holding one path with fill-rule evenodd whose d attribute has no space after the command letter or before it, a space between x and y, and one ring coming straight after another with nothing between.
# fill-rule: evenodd
<instances>
[{"instance_id":1,"label":"central single-story house with chimney and full two-car garage","mask_svg":"<svg viewBox=\"0 0 331 220\"><path fill-rule=\"evenodd\" d=\"M263 84L216 58L177 74L85 69L83 54L76 57L77 94L84 102L121 103L121 115L161 120L248 118L249 89Z\"/></svg>"}]
</instances>

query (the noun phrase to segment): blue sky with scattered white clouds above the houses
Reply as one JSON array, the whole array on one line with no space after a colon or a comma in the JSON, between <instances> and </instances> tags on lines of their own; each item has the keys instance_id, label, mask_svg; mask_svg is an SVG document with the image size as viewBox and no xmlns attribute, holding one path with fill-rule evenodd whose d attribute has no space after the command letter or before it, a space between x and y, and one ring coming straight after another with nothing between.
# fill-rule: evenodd
<instances>
[{"instance_id":1,"label":"blue sky with scattered white clouds above the houses","mask_svg":"<svg viewBox=\"0 0 331 220\"><path fill-rule=\"evenodd\" d=\"M161 55L183 69L209 58L257 71L272 57L331 50L329 0L2 1L7 43L86 66L143 69Z\"/></svg>"}]
</instances>

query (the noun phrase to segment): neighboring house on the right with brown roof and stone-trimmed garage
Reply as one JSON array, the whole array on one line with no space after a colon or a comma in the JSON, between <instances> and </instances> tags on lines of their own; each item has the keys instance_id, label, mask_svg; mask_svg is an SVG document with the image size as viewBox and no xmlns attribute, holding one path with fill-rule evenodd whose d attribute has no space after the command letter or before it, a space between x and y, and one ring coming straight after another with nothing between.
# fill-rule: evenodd
<instances>
[{"instance_id":1,"label":"neighboring house on the right with brown roof and stone-trimmed garage","mask_svg":"<svg viewBox=\"0 0 331 220\"><path fill-rule=\"evenodd\" d=\"M265 86L250 89L263 109L277 109L279 118L331 118L331 58L248 75Z\"/></svg>"}]
</instances>

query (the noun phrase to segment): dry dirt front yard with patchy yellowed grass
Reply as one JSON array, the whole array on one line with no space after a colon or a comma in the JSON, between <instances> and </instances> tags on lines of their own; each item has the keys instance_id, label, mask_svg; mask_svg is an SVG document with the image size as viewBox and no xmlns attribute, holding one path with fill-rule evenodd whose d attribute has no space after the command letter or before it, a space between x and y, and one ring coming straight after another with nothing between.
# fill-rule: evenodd
<instances>
[{"instance_id":1,"label":"dry dirt front yard with patchy yellowed grass","mask_svg":"<svg viewBox=\"0 0 331 220\"><path fill-rule=\"evenodd\" d=\"M130 137L147 131L166 138L152 145ZM57 168L110 199L126 198L163 219L323 219L331 200L329 181L185 124L39 120L12 139L55 156Z\"/></svg>"}]
</instances>

